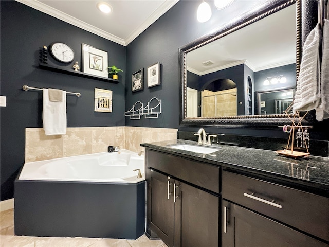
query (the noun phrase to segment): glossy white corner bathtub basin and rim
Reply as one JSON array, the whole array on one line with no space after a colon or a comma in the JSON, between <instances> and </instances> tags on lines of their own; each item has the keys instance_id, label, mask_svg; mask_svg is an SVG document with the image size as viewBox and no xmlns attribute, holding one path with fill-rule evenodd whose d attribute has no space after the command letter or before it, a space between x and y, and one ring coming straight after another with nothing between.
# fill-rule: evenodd
<instances>
[{"instance_id":1,"label":"glossy white corner bathtub basin and rim","mask_svg":"<svg viewBox=\"0 0 329 247\"><path fill-rule=\"evenodd\" d=\"M142 178L137 178L140 169ZM122 182L144 180L144 156L129 150L27 162L19 180Z\"/></svg>"}]
</instances>

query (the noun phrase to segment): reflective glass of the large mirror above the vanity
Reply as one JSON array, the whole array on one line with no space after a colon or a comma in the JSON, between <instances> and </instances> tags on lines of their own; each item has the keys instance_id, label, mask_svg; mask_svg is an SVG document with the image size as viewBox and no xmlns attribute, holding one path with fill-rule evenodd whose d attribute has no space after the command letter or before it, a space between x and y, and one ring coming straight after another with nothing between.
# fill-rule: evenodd
<instances>
[{"instance_id":1,"label":"reflective glass of the large mirror above the vanity","mask_svg":"<svg viewBox=\"0 0 329 247\"><path fill-rule=\"evenodd\" d=\"M296 4L187 52L186 69L187 117L282 114L293 95L278 92L296 86ZM266 97L278 106L260 107Z\"/></svg>"}]
</instances>

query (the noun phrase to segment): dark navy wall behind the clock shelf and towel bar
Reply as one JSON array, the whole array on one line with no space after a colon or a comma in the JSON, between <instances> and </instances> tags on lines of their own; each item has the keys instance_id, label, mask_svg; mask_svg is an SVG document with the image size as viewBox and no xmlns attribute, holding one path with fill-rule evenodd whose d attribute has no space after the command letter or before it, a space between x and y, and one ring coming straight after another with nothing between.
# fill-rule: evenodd
<instances>
[{"instance_id":1,"label":"dark navy wall behind the clock shelf and towel bar","mask_svg":"<svg viewBox=\"0 0 329 247\"><path fill-rule=\"evenodd\" d=\"M1 1L1 200L12 198L13 181L25 160L25 128L42 127L42 92L23 85L80 92L67 96L67 126L123 126L125 74L118 84L65 75L38 68L40 47L61 41L75 51L81 65L81 44L108 51L109 65L125 70L125 47L67 24L16 1ZM52 58L49 56L51 63ZM52 60L54 61L54 60ZM73 65L70 64L68 67ZM94 89L113 91L113 112L94 112Z\"/></svg>"}]
</instances>

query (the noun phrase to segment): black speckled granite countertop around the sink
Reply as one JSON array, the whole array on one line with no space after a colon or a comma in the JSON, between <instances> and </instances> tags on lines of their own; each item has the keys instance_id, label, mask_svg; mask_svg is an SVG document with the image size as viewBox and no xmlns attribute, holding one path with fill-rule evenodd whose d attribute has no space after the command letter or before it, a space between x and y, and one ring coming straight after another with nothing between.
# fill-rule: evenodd
<instances>
[{"instance_id":1,"label":"black speckled granite countertop around the sink","mask_svg":"<svg viewBox=\"0 0 329 247\"><path fill-rule=\"evenodd\" d=\"M168 140L144 143L140 146L193 160L207 162L227 168L284 180L319 190L321 195L329 197L329 158L310 156L309 159L294 159L279 156L275 151L214 144L220 148L210 154L195 153L170 148L175 144L193 144L191 140ZM210 147L210 146L203 146Z\"/></svg>"}]
</instances>

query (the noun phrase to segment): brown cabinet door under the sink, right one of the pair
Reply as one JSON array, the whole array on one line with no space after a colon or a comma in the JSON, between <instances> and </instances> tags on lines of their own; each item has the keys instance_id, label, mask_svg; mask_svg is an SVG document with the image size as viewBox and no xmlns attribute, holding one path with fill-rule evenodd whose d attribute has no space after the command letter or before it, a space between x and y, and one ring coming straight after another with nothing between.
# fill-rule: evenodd
<instances>
[{"instance_id":1,"label":"brown cabinet door under the sink, right one of the pair","mask_svg":"<svg viewBox=\"0 0 329 247\"><path fill-rule=\"evenodd\" d=\"M174 184L175 247L216 247L219 198L180 181Z\"/></svg>"}]
</instances>

